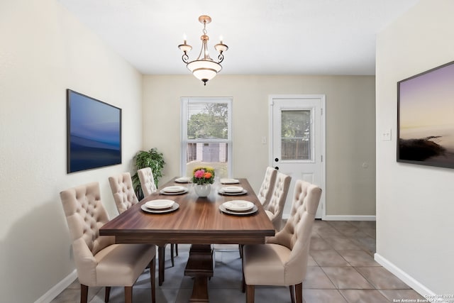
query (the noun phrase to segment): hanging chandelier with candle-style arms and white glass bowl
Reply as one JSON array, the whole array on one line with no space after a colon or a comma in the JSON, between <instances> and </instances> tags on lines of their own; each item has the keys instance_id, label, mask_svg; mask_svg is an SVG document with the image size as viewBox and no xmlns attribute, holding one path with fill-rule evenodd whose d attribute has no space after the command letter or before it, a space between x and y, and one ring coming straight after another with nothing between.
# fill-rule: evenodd
<instances>
[{"instance_id":1,"label":"hanging chandelier with candle-style arms and white glass bowl","mask_svg":"<svg viewBox=\"0 0 454 303\"><path fill-rule=\"evenodd\" d=\"M219 63L224 60L223 52L228 50L228 46L223 44L222 40L220 43L214 45L214 48L219 53L218 62L211 59L207 46L209 36L206 35L206 24L211 22L211 17L200 16L199 22L204 25L204 30L202 31L203 35L201 35L200 37L201 50L199 57L194 61L189 61L187 52L189 52L189 50L192 50L192 46L188 45L186 43L186 40L184 40L183 44L178 45L178 48L183 51L182 60L184 63L186 63L188 70L190 70L192 72L192 75L194 75L197 79L203 81L204 85L206 85L206 82L213 79L218 74L218 72L222 70L222 66Z\"/></svg>"}]
</instances>

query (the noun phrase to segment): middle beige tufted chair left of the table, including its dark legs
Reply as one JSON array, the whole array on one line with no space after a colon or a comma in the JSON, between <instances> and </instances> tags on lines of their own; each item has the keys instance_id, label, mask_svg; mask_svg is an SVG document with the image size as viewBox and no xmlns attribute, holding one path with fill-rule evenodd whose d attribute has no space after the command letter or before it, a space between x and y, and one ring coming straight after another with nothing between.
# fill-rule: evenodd
<instances>
[{"instance_id":1,"label":"middle beige tufted chair left of the table, including its dark legs","mask_svg":"<svg viewBox=\"0 0 454 303\"><path fill-rule=\"evenodd\" d=\"M123 172L109 177L109 184L111 185L112 194L114 194L114 201L118 213L121 214L123 211L126 211L131 206L138 203L133 188L133 180L129 172ZM162 285L162 282L164 282L164 255L165 246L157 246L157 272L159 285ZM173 253L170 258L172 260L172 266L174 266Z\"/></svg>"}]
</instances>

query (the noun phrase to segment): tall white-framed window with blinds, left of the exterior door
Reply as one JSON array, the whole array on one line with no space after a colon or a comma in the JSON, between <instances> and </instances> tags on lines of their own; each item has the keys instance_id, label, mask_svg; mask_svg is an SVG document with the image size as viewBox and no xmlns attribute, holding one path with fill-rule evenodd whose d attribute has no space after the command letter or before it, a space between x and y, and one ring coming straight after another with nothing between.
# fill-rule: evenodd
<instances>
[{"instance_id":1,"label":"tall white-framed window with blinds, left of the exterior door","mask_svg":"<svg viewBox=\"0 0 454 303\"><path fill-rule=\"evenodd\" d=\"M232 167L231 98L182 98L182 175L211 166L216 177L229 177Z\"/></svg>"}]
</instances>

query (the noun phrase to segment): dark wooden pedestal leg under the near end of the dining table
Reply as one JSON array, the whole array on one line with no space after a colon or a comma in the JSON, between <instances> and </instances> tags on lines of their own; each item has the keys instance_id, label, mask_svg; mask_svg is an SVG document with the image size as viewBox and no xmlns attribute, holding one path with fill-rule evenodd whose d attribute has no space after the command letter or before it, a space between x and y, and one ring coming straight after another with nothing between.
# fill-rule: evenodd
<instances>
[{"instance_id":1,"label":"dark wooden pedestal leg under the near end of the dining table","mask_svg":"<svg viewBox=\"0 0 454 303\"><path fill-rule=\"evenodd\" d=\"M194 277L189 302L209 302L208 279L213 277L213 249L209 244L192 244L184 275Z\"/></svg>"}]
</instances>

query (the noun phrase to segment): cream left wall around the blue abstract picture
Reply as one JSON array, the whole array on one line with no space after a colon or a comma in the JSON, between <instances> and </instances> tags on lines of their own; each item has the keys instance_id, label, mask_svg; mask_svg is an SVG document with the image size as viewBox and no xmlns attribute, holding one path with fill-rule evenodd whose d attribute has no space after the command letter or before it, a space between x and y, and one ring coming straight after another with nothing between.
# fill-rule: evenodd
<instances>
[{"instance_id":1,"label":"cream left wall around the blue abstract picture","mask_svg":"<svg viewBox=\"0 0 454 303\"><path fill-rule=\"evenodd\" d=\"M74 270L58 193L131 168L142 78L55 0L0 1L1 302L35 302ZM123 165L66 173L67 88L123 109ZM45 302L45 301L44 301Z\"/></svg>"}]
</instances>

